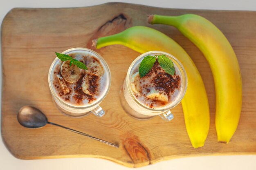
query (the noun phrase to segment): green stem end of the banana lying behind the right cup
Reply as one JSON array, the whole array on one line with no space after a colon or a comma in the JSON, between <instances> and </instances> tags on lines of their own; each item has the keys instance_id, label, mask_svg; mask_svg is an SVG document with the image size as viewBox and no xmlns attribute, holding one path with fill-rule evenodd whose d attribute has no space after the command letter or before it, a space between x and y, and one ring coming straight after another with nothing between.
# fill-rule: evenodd
<instances>
[{"instance_id":1,"label":"green stem end of the banana lying behind the right cup","mask_svg":"<svg viewBox=\"0 0 256 170\"><path fill-rule=\"evenodd\" d=\"M101 37L98 40L94 40L95 42L97 42L96 48L100 49L103 46L109 46L109 45L114 45L114 44L123 44L122 34L123 34L123 32L117 33L114 35L109 35L106 37Z\"/></svg>"}]
</instances>

